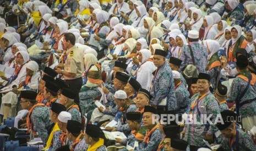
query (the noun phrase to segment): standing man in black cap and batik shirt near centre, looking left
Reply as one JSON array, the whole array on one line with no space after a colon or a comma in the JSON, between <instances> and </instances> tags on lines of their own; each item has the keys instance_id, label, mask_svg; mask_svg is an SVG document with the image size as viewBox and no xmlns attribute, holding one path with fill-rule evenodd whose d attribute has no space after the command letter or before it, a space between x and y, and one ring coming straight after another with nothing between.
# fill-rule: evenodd
<instances>
[{"instance_id":1,"label":"standing man in black cap and batik shirt near centre, looking left","mask_svg":"<svg viewBox=\"0 0 256 151\"><path fill-rule=\"evenodd\" d=\"M165 61L166 55L166 51L156 49L153 58L157 69L154 72L150 88L150 94L152 95L150 103L153 107L157 107L158 114L178 109L172 69Z\"/></svg>"}]
</instances>

